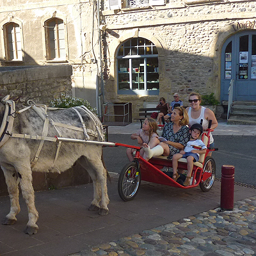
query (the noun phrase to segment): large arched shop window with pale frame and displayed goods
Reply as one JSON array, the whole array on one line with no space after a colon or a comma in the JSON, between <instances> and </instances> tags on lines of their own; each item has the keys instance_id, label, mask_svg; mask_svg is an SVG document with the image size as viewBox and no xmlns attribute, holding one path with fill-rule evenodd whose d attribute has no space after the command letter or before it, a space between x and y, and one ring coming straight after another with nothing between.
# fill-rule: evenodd
<instances>
[{"instance_id":1,"label":"large arched shop window with pale frame and displayed goods","mask_svg":"<svg viewBox=\"0 0 256 256\"><path fill-rule=\"evenodd\" d=\"M119 94L159 94L159 68L156 45L145 38L131 38L117 53Z\"/></svg>"}]
</instances>

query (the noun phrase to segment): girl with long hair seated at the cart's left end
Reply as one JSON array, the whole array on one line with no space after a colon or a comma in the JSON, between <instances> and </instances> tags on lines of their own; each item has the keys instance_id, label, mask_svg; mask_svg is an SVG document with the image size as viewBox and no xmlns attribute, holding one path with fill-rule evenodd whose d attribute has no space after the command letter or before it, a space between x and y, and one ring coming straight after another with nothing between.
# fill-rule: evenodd
<instances>
[{"instance_id":1,"label":"girl with long hair seated at the cart's left end","mask_svg":"<svg viewBox=\"0 0 256 256\"><path fill-rule=\"evenodd\" d=\"M153 118L146 118L142 125L142 128L139 129L136 133L132 133L131 139L132 140L137 139L138 144L142 146L143 143L148 143L150 139L154 137L158 138L158 134L156 133L157 128L158 128L157 122ZM134 148L127 148L126 154L130 161L133 161L134 159L132 156L132 152L134 151L135 151ZM143 154L144 154L143 149L140 150L140 154L143 157Z\"/></svg>"}]
</instances>

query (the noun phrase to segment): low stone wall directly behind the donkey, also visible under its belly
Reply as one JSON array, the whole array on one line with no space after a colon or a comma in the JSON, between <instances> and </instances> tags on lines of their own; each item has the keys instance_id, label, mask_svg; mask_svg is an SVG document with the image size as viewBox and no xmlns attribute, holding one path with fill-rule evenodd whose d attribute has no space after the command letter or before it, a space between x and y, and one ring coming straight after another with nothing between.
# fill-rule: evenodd
<instances>
[{"instance_id":1,"label":"low stone wall directly behind the donkey, also visible under its belly","mask_svg":"<svg viewBox=\"0 0 256 256\"><path fill-rule=\"evenodd\" d=\"M0 93L10 94L15 102L26 105L28 99L36 103L48 104L61 93L72 95L72 66L51 65L31 67L1 67ZM64 173L33 173L33 188L41 191L87 184L90 175L79 164ZM8 195L2 170L0 169L0 196Z\"/></svg>"}]
</instances>

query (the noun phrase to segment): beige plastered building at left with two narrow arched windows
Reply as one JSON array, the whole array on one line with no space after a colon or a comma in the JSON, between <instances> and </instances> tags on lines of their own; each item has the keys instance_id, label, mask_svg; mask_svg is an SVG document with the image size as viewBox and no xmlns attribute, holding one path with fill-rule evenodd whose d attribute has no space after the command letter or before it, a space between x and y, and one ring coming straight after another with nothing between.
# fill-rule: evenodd
<instances>
[{"instance_id":1,"label":"beige plastered building at left with two narrow arched windows","mask_svg":"<svg viewBox=\"0 0 256 256\"><path fill-rule=\"evenodd\" d=\"M1 66L72 65L73 95L97 107L97 3L1 0L0 7Z\"/></svg>"}]
</instances>

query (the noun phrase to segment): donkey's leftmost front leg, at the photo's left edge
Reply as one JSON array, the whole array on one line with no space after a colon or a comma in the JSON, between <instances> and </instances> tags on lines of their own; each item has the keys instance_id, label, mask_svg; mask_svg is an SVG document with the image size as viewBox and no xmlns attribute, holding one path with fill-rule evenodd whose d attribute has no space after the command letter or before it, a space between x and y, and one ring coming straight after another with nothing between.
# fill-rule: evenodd
<instances>
[{"instance_id":1,"label":"donkey's leftmost front leg, at the photo's left edge","mask_svg":"<svg viewBox=\"0 0 256 256\"><path fill-rule=\"evenodd\" d=\"M20 212L20 204L19 204L19 181L17 179L17 175L15 175L15 168L4 168L1 166L4 177L6 180L6 184L8 187L8 193L10 196L11 209L10 212L4 218L2 224L3 225L12 225L17 221L16 215Z\"/></svg>"}]
</instances>

